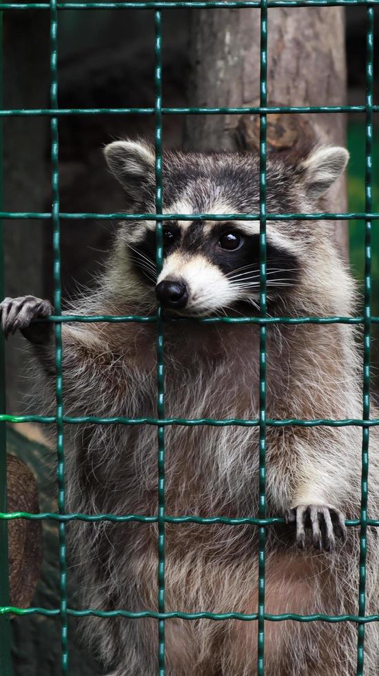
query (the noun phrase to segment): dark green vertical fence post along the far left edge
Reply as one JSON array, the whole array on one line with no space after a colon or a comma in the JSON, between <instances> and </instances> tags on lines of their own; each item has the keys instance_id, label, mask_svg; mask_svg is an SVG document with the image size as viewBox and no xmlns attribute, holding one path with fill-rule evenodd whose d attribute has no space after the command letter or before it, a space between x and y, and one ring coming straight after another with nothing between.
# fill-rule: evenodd
<instances>
[{"instance_id":1,"label":"dark green vertical fence post along the far left edge","mask_svg":"<svg viewBox=\"0 0 379 676\"><path fill-rule=\"evenodd\" d=\"M2 37L3 12L0 12L0 35ZM0 50L0 103L3 105L3 52ZM3 125L0 123L0 203L3 203ZM0 297L4 297L4 252L3 221L0 221ZM6 360L4 336L0 335L0 409L6 412ZM0 510L7 509L7 440L6 423L0 424ZM0 523L0 605L9 604L8 527ZM0 674L10 676L10 615L0 617Z\"/></svg>"}]
</instances>

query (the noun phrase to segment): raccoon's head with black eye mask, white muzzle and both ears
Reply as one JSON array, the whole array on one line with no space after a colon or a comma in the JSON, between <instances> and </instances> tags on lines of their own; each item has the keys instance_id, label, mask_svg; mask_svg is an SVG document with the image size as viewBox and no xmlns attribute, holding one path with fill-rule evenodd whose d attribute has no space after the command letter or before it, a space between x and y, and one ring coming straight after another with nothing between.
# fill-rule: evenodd
<instances>
[{"instance_id":1,"label":"raccoon's head with black eye mask, white muzzle and both ears","mask_svg":"<svg viewBox=\"0 0 379 676\"><path fill-rule=\"evenodd\" d=\"M132 212L154 212L154 152L145 143L116 141L105 148L108 166L125 188ZM344 148L318 148L305 157L267 163L267 211L320 210L320 197L347 164ZM239 153L163 155L164 213L233 214L259 210L259 160ZM208 315L249 304L259 309L259 221L165 220L163 268L155 263L156 222L123 223L119 243L144 284L165 308ZM318 221L267 221L267 301L296 289L317 251ZM324 223L325 228L325 223ZM325 239L325 232L324 232ZM247 308L245 308L245 311Z\"/></svg>"}]
</instances>

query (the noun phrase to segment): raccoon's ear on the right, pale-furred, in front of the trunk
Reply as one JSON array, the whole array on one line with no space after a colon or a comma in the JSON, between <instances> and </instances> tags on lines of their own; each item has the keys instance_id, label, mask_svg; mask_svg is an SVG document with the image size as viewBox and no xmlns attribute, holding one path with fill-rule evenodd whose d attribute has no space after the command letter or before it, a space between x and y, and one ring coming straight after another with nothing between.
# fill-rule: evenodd
<instances>
[{"instance_id":1,"label":"raccoon's ear on the right, pale-furred, in front of the trunk","mask_svg":"<svg viewBox=\"0 0 379 676\"><path fill-rule=\"evenodd\" d=\"M342 174L348 161L349 153L338 146L323 146L312 151L300 164L307 195L320 197Z\"/></svg>"}]
</instances>

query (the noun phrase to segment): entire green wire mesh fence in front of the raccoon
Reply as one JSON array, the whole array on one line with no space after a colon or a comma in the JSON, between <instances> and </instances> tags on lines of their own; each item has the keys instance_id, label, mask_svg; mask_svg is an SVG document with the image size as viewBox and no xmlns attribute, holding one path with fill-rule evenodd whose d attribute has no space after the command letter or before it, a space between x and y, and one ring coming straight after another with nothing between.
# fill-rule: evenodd
<instances>
[{"instance_id":1,"label":"entire green wire mesh fence in front of the raccoon","mask_svg":"<svg viewBox=\"0 0 379 676\"><path fill-rule=\"evenodd\" d=\"M54 339L55 339L55 396L56 406L53 415L13 415L12 412L6 414L4 392L2 393L1 407L3 412L0 415L1 425L1 442L3 448L3 459L1 466L1 541L6 543L6 529L7 523L11 519L30 519L32 520L50 520L57 524L59 531L59 604L55 608L14 608L9 605L8 586L4 584L2 588L2 598L0 598L0 618L1 618L1 647L0 647L0 664L1 673L5 676L10 674L10 615L41 615L42 617L52 618L54 622L59 620L60 637L61 637L61 658L60 668L61 673L70 673L70 639L68 625L71 618L77 617L99 617L99 622L107 618L121 617L125 619L132 619L135 622L141 622L146 618L154 619L156 624L156 631L158 633L157 640L157 673L160 676L165 675L167 665L165 658L166 646L166 624L172 620L183 620L186 622L198 621L212 621L223 622L229 619L235 620L236 623L254 622L256 624L256 657L257 666L256 673L258 676L263 676L265 673L265 625L271 622L298 622L300 624L307 624L311 622L329 623L333 630L337 631L340 622L351 622L357 626L357 676L362 676L364 671L364 646L365 646L365 626L371 622L378 622L379 615L365 614L365 592L366 592L366 577L367 577L367 530L379 525L379 514L376 515L378 519L371 519L367 515L367 502L369 499L369 437L372 426L379 424L379 419L371 418L370 416L370 362L371 362L371 326L378 324L379 317L371 314L371 228L378 220L378 213L373 212L372 202L372 144L373 144L373 115L378 112L378 106L373 102L373 17L374 7L377 0L252 0L252 1L232 1L226 2L208 1L192 3L187 0L170 1L165 3L149 1L149 2L114 2L114 3L70 3L57 2L57 0L50 0L50 3L3 3L3 12L28 12L28 10L35 9L36 12L43 12L46 17L50 17L50 104L48 108L3 108L1 110L1 117L11 120L14 117L47 117L50 120L50 182L52 191L52 206L51 208L41 210L39 212L33 211L3 211L0 216L5 221L4 227L11 227L12 220L18 219L25 221L25 231L28 226L37 219L39 222L45 222L52 228L52 261L53 261L53 290L54 290L54 315L48 318L54 325ZM337 6L337 5L355 5L364 6L367 19L367 49L366 49L366 98L359 106L347 106L344 103L329 106L327 101L322 101L318 106L301 107L296 106L296 102L291 106L268 106L267 105L267 41L269 37L269 9L275 7L293 7L294 11L298 7L312 7L318 8L320 6ZM168 10L188 9L191 12L196 12L202 8L209 11L221 11L227 8L234 8L243 11L244 8L254 8L260 17L260 78L259 91L257 92L258 101L256 106L249 108L217 108L212 109L198 108L193 106L176 106L165 108L165 101L163 99L162 81L164 79L163 66L163 17L168 14ZM149 21L154 17L154 101L151 105L136 106L133 108L117 108L114 106L110 108L105 106L101 109L95 108L81 108L78 104L76 108L61 108L59 106L59 20L63 12L75 10L75 12L82 12L85 17L86 10L91 12L107 10L115 10L125 21L127 26L127 12L136 11L141 14L141 26L144 25L146 14ZM82 11L83 10L83 11ZM167 10L163 14L163 10ZM316 11L316 9L315 9ZM80 102L80 101L79 101ZM116 99L115 99L116 102ZM6 101L4 101L6 105ZM25 103L22 101L21 103ZM20 105L21 105L20 103ZM26 102L27 103L27 102ZM171 115L218 115L227 113L235 115L236 112L243 112L246 115L257 115L259 123L257 126L258 145L259 145L259 204L258 211L254 214L234 214L234 213L219 213L219 214L201 214L193 215L187 214L164 214L164 192L163 192L163 172L164 159L163 149L165 147L165 138L163 134L163 117ZM345 115L349 112L359 112L365 115L365 211L361 213L295 213L295 214L275 214L267 210L267 124L269 113L292 115L298 112L307 113L309 115ZM59 168L59 128L65 124L69 124L72 117L91 116L97 117L100 115L120 115L125 116L146 116L154 120L154 146L155 146L155 212L152 214L132 214L129 212L120 214L117 210L112 213L90 212L90 211L65 211L61 209L61 188L60 188L60 168ZM64 121L63 121L64 119ZM66 121L67 120L67 121ZM25 120L25 123L27 120ZM70 205L68 205L69 208ZM25 208L22 203L18 209ZM28 206L26 206L28 208ZM90 208L90 206L88 206ZM155 222L156 227L156 268L158 272L163 266L163 221L170 219L181 220L198 220L206 219L209 221L225 220L229 221L243 221L258 220L259 221L259 312L254 317L212 317L198 319L204 324L217 323L221 326L223 324L242 324L240 329L244 331L254 330L259 334L259 388L258 388L258 415L254 419L186 419L181 417L181 411L178 410L177 417L170 418L166 416L165 410L165 322L170 321L170 318L165 317L161 306L158 304L156 311L152 315L63 315L61 307L61 233L65 232L66 228L72 226L85 226L85 224L94 221L114 221L116 219L125 219L125 221L150 219ZM353 219L362 219L365 222L365 289L364 289L364 303L362 312L356 317L346 317L343 315L333 315L330 317L272 317L267 312L267 224L270 221L318 221L323 220L342 220L351 221ZM122 415L116 417L96 416L92 415L91 411L85 416L68 415L65 412L65 401L63 397L63 379L65 372L63 368L63 353L64 346L62 341L62 325L66 321L85 323L137 323L137 324L153 324L156 327L156 416L150 418L126 418ZM181 321L181 320L178 320ZM362 346L363 346L363 381L362 381L362 417L360 419L350 417L351 412L346 411L345 419L276 419L267 417L267 336L272 327L278 324L284 324L291 329L303 324L314 324L315 328L322 325L322 331L327 332L331 330L336 324L345 324L346 330L353 330L354 327L360 327L362 330ZM189 328L190 330L190 328ZM31 513L8 513L6 508L6 441L5 441L5 424L6 423L26 423L36 422L40 424L52 424L55 426L57 435L57 483L58 483L58 499L57 509L51 512L39 513L38 515ZM119 426L152 426L156 430L156 510L150 515L141 514L70 514L65 508L66 486L65 486L65 428L66 426L80 426L81 424L101 425L104 428L113 425ZM165 457L165 441L167 437L167 429L173 426L183 426L189 430L202 426L219 427L221 429L234 426L237 428L256 428L258 439L258 493L259 493L259 508L256 515L251 517L224 517L223 515L172 515L166 510L166 496L165 496L165 478L167 472L167 464ZM347 521L347 526L353 529L358 529L358 537L360 541L360 561L359 561L359 584L357 588L357 608L356 612L351 615L323 615L311 614L300 615L296 612L288 612L283 610L283 613L272 614L266 608L266 539L267 529L275 524L283 523L283 517L267 517L266 509L266 453L267 453L267 436L269 430L272 428L292 428L300 427L308 430L311 435L314 428L344 428L346 426L354 426L362 431L362 475L360 477L361 501L360 501L360 518ZM141 524L141 528L147 528L147 524L154 524L156 529L156 541L158 550L158 566L156 577L156 610L152 608L141 608L140 610L130 610L128 608L71 608L68 606L68 590L67 590L67 560L66 560L66 526L70 521L85 521L88 527L91 523L96 521L104 521L112 524L112 528L122 528L122 524ZM258 532L258 561L257 561L257 585L256 597L254 604L252 604L251 612L235 611L232 608L227 612L220 612L218 608L202 608L196 613L189 613L185 610L174 609L167 610L165 602L165 592L167 587L166 566L170 569L170 561L166 560L166 538L170 538L170 532L173 528L185 529L187 524L196 524L196 527L209 528L218 525L220 528L245 528L249 527ZM168 534L168 535L167 535ZM168 540L167 540L168 541ZM0 576L3 581L8 577L8 562L7 562L7 548L3 547L0 555ZM337 628L336 628L337 627Z\"/></svg>"}]
</instances>

